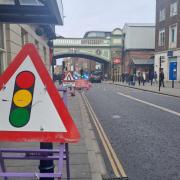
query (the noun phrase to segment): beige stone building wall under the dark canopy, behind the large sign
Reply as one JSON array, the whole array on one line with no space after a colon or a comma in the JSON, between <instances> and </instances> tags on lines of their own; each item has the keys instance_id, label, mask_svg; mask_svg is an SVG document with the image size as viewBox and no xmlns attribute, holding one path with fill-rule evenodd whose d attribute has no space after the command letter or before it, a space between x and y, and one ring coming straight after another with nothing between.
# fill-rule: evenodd
<instances>
[{"instance_id":1,"label":"beige stone building wall under the dark canopy, behind the large sign","mask_svg":"<svg viewBox=\"0 0 180 180\"><path fill-rule=\"evenodd\" d=\"M33 43L48 71L50 71L50 49L48 37L36 34L37 26L22 24L0 24L0 73L2 73L26 43Z\"/></svg>"}]
</instances>

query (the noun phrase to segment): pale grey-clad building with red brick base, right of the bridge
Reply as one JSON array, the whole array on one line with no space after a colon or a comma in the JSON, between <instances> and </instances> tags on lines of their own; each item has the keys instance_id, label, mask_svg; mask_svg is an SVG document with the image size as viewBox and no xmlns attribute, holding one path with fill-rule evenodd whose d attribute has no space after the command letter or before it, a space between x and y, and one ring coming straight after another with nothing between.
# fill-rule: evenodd
<instances>
[{"instance_id":1,"label":"pale grey-clad building with red brick base, right of the bridge","mask_svg":"<svg viewBox=\"0 0 180 180\"><path fill-rule=\"evenodd\" d=\"M125 24L123 73L149 74L154 71L155 25Z\"/></svg>"}]
</instances>

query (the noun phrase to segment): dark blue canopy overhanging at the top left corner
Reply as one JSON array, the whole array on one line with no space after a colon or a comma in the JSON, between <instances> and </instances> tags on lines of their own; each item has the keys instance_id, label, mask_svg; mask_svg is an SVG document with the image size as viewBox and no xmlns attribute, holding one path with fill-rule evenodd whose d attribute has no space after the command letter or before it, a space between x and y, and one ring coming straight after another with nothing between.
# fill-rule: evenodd
<instances>
[{"instance_id":1,"label":"dark blue canopy overhanging at the top left corner","mask_svg":"<svg viewBox=\"0 0 180 180\"><path fill-rule=\"evenodd\" d=\"M1 23L63 25L61 0L0 0Z\"/></svg>"}]
</instances>

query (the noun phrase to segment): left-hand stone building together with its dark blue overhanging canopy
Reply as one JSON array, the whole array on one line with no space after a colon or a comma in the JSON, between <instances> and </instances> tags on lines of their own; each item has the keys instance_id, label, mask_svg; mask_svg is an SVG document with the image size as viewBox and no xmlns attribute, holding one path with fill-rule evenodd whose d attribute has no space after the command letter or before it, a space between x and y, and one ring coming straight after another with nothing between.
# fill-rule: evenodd
<instances>
[{"instance_id":1,"label":"left-hand stone building together with its dark blue overhanging canopy","mask_svg":"<svg viewBox=\"0 0 180 180\"><path fill-rule=\"evenodd\" d=\"M49 40L55 37L55 24L63 25L62 1L1 0L0 8L0 74L26 43L36 46L50 72Z\"/></svg>"}]
</instances>

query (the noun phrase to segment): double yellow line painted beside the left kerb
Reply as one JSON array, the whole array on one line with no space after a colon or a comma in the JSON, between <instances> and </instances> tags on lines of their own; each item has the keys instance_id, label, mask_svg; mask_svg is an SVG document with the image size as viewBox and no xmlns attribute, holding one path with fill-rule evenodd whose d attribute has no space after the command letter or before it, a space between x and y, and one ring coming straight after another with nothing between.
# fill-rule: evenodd
<instances>
[{"instance_id":1,"label":"double yellow line painted beside the left kerb","mask_svg":"<svg viewBox=\"0 0 180 180\"><path fill-rule=\"evenodd\" d=\"M85 104L86 104L86 106L88 108L88 111L89 111L89 113L91 115L91 118L92 118L92 120L94 122L94 125L95 125L95 127L97 129L97 132L98 132L99 137L100 137L100 139L102 141L102 144L104 146L105 152L106 152L106 154L108 156L108 159L110 161L110 164L112 166L112 169L114 171L115 176L116 177L127 177L127 175L126 175L126 173L125 173L125 171L123 169L122 164L120 163L119 159L117 158L117 155L116 155L111 143L109 142L106 133L104 132L104 130L103 130L103 128L102 128L102 126L101 126L101 124L100 124L100 122L99 122L99 120L98 120L98 118L97 118L97 116L96 116L96 114L94 112L94 110L92 109L92 107L91 107L87 97L84 95L84 93L82 93L82 97L83 97L84 102L85 102Z\"/></svg>"}]
</instances>

